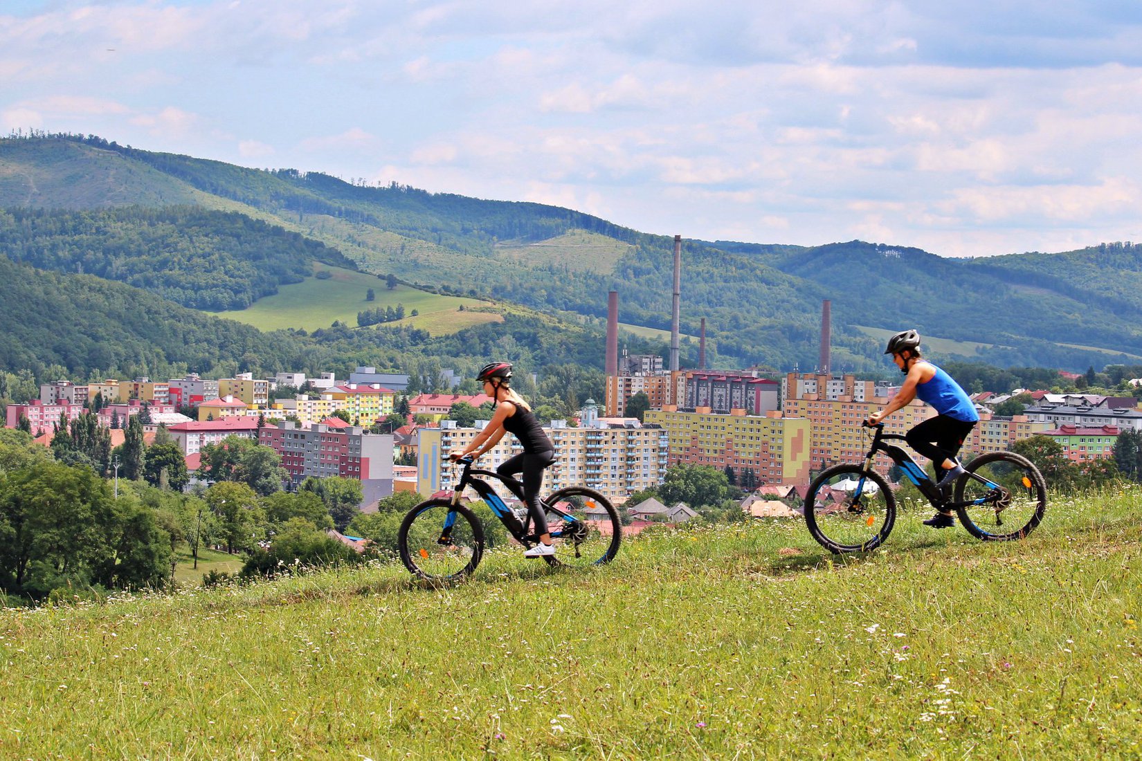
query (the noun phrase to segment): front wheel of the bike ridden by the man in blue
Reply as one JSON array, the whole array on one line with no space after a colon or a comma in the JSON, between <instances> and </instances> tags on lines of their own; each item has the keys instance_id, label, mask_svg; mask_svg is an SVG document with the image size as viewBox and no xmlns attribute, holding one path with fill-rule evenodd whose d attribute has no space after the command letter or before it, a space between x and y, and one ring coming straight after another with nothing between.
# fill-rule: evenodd
<instances>
[{"instance_id":1,"label":"front wheel of the bike ridden by the man in blue","mask_svg":"<svg viewBox=\"0 0 1142 761\"><path fill-rule=\"evenodd\" d=\"M810 484L804 512L809 533L825 549L867 552L892 531L896 499L879 475L862 465L835 465Z\"/></svg>"}]
</instances>

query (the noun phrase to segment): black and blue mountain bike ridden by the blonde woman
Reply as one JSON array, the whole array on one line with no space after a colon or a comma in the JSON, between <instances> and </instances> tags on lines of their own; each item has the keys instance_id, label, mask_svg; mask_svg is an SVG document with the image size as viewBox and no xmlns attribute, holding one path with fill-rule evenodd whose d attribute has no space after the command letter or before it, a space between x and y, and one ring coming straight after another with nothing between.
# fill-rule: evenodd
<instances>
[{"instance_id":1,"label":"black and blue mountain bike ridden by the blonde woman","mask_svg":"<svg viewBox=\"0 0 1142 761\"><path fill-rule=\"evenodd\" d=\"M521 502L523 484L491 470L472 467L472 458L463 458L460 480L451 499L421 502L409 510L397 534L397 549L404 567L428 581L457 581L480 565L484 552L484 529L471 508L460 503L471 486L499 518L508 534L524 548L539 541L528 509L513 510L496 489L478 477L494 478ZM619 551L622 525L610 501L586 486L569 486L553 492L540 504L547 517L548 532L555 547L554 557L545 557L556 566L593 566L610 562Z\"/></svg>"}]
</instances>

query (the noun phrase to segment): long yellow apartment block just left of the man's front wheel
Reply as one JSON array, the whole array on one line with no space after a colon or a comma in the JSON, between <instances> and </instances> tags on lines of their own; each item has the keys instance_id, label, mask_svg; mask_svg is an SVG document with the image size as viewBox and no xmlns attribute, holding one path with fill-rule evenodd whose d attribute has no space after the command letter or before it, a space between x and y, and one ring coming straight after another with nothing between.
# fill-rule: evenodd
<instances>
[{"instance_id":1,"label":"long yellow apartment block just left of the man's front wheel","mask_svg":"<svg viewBox=\"0 0 1142 761\"><path fill-rule=\"evenodd\" d=\"M666 431L671 465L709 465L718 470L729 465L739 483L747 470L758 484L810 480L812 424L807 419L781 418L777 412L746 415L701 408L651 410L643 420Z\"/></svg>"}]
</instances>

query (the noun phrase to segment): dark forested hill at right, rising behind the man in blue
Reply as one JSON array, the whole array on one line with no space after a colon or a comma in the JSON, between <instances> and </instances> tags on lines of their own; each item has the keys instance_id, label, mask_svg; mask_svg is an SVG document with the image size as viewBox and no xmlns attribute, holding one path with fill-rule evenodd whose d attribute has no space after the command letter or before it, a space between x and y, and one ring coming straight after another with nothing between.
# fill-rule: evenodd
<instances>
[{"instance_id":1,"label":"dark forested hill at right, rising behind the man in blue","mask_svg":"<svg viewBox=\"0 0 1142 761\"><path fill-rule=\"evenodd\" d=\"M994 345L983 354L999 364L1078 366L1076 347L1142 355L1142 246L946 259L852 241L754 256L820 286L851 324Z\"/></svg>"}]
</instances>

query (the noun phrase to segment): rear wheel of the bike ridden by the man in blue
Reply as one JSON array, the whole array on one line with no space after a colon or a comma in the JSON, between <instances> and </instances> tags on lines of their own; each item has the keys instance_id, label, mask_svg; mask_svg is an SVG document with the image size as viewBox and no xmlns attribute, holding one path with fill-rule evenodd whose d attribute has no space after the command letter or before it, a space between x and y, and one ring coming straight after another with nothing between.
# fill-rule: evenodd
<instances>
[{"instance_id":1,"label":"rear wheel of the bike ridden by the man in blue","mask_svg":"<svg viewBox=\"0 0 1142 761\"><path fill-rule=\"evenodd\" d=\"M1014 452L991 452L964 465L956 481L956 502L971 502L956 515L972 536L1005 542L1023 539L1039 525L1047 510L1047 485L1027 458Z\"/></svg>"}]
</instances>

